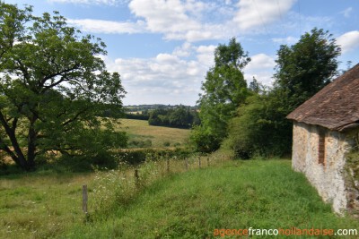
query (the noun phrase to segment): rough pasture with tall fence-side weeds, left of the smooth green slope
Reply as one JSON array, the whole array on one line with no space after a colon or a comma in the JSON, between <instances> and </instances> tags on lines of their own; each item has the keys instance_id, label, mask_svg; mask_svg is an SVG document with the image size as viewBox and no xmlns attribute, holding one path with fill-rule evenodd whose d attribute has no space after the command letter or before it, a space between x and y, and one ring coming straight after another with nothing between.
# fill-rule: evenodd
<instances>
[{"instance_id":1,"label":"rough pasture with tall fence-side weeds, left of the smooth green slope","mask_svg":"<svg viewBox=\"0 0 359 239\"><path fill-rule=\"evenodd\" d=\"M223 160L223 157L212 157ZM139 193L168 175L198 167L198 157L147 158L142 165L118 165L118 170L74 174L62 169L0 177L0 238L55 238L75 226L106 221L127 209ZM168 164L170 170L168 170ZM202 167L206 158L202 158ZM138 170L138 181L134 170ZM89 215L82 211L82 186L89 189ZM70 235L72 235L70 233ZM65 236L66 237L66 236ZM82 238L78 235L78 238Z\"/></svg>"}]
</instances>

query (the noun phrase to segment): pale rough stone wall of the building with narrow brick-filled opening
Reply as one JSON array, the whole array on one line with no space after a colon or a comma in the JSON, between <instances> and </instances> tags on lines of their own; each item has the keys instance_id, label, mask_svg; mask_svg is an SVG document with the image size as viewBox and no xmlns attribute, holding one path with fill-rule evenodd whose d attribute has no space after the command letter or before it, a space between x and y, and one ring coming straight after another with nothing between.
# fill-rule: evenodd
<instances>
[{"instance_id":1,"label":"pale rough stone wall of the building with narrow brick-filled opening","mask_svg":"<svg viewBox=\"0 0 359 239\"><path fill-rule=\"evenodd\" d=\"M320 131L325 132L324 164L319 163ZM342 213L348 203L345 164L351 144L346 134L294 122L293 169L304 173L323 200L331 203L337 213Z\"/></svg>"}]
</instances>

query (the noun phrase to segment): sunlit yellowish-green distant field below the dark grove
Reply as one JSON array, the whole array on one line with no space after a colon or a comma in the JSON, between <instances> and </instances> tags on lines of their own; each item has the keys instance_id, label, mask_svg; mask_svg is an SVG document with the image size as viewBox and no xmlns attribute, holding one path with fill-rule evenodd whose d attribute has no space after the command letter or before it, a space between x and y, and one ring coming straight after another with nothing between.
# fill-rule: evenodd
<instances>
[{"instance_id":1,"label":"sunlit yellowish-green distant field below the dark grove","mask_svg":"<svg viewBox=\"0 0 359 239\"><path fill-rule=\"evenodd\" d=\"M126 131L130 141L152 141L153 148L184 145L189 136L189 130L149 125L147 121L135 119L120 119L120 128ZM169 145L170 143L170 145Z\"/></svg>"}]
</instances>

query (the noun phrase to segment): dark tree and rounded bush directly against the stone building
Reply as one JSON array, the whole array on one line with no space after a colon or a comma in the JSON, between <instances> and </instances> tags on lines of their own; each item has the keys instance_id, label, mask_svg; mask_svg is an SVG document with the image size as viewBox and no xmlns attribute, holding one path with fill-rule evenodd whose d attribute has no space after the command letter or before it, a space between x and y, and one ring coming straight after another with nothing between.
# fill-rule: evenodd
<instances>
[{"instance_id":1,"label":"dark tree and rounded bush directly against the stone building","mask_svg":"<svg viewBox=\"0 0 359 239\"><path fill-rule=\"evenodd\" d=\"M224 145L241 158L289 154L292 123L285 116L331 81L339 54L328 31L317 29L302 35L292 47L281 46L274 89L264 90L256 79L250 82L253 96L238 108Z\"/></svg>"}]
</instances>

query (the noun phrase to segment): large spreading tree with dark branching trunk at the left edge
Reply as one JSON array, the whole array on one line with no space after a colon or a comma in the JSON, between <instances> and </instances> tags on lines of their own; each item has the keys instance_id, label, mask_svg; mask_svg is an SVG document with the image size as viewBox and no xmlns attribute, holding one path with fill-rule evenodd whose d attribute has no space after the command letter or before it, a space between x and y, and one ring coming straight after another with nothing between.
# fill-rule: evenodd
<instances>
[{"instance_id":1,"label":"large spreading tree with dark branching trunk at the left edge","mask_svg":"<svg viewBox=\"0 0 359 239\"><path fill-rule=\"evenodd\" d=\"M125 145L96 117L103 106L120 110L125 94L101 60L105 44L57 12L31 12L0 3L0 149L31 170L51 150L93 157Z\"/></svg>"}]
</instances>

